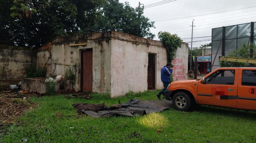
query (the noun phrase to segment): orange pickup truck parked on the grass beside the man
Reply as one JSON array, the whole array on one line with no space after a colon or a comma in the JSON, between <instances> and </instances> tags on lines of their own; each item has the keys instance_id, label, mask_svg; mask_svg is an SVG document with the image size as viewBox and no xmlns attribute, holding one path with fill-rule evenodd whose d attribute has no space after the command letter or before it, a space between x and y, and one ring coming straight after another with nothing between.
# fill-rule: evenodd
<instances>
[{"instance_id":1,"label":"orange pickup truck parked on the grass beside the man","mask_svg":"<svg viewBox=\"0 0 256 143\"><path fill-rule=\"evenodd\" d=\"M256 111L256 67L218 68L200 80L172 82L165 98L180 111L194 104Z\"/></svg>"}]
</instances>

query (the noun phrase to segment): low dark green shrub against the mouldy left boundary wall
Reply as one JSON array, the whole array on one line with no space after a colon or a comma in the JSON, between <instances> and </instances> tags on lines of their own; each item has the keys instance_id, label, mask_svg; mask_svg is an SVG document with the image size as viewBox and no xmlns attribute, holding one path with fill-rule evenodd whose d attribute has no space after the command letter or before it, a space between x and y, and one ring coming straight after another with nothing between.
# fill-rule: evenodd
<instances>
[{"instance_id":1,"label":"low dark green shrub against the mouldy left boundary wall","mask_svg":"<svg viewBox=\"0 0 256 143\"><path fill-rule=\"evenodd\" d=\"M46 77L46 68L37 69L35 64L31 64L26 68L27 78Z\"/></svg>"}]
</instances>

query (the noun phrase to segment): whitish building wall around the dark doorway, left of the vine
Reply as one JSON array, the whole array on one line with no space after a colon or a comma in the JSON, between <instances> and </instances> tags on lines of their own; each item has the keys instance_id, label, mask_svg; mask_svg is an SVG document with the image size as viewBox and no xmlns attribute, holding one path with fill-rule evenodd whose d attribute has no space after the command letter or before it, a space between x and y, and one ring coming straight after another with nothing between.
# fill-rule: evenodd
<instances>
[{"instance_id":1,"label":"whitish building wall around the dark doorway, left of the vine","mask_svg":"<svg viewBox=\"0 0 256 143\"><path fill-rule=\"evenodd\" d=\"M166 49L111 40L111 97L148 88L148 54L156 54L156 89L161 89L161 68L166 64Z\"/></svg>"}]
</instances>

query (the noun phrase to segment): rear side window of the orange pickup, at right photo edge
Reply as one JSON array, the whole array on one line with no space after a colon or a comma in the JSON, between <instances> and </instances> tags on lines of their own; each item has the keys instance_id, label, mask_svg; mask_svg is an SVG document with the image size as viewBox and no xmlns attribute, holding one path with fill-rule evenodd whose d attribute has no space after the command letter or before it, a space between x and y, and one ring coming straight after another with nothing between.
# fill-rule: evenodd
<instances>
[{"instance_id":1,"label":"rear side window of the orange pickup, at right photo edge","mask_svg":"<svg viewBox=\"0 0 256 143\"><path fill-rule=\"evenodd\" d=\"M242 85L256 86L256 70L243 70Z\"/></svg>"}]
</instances>

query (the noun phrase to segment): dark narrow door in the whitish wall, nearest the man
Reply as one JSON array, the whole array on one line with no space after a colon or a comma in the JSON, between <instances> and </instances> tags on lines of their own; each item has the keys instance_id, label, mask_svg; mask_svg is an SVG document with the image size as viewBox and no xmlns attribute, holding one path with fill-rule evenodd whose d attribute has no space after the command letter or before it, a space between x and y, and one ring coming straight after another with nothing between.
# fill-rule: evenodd
<instances>
[{"instance_id":1,"label":"dark narrow door in the whitish wall, nearest the man","mask_svg":"<svg viewBox=\"0 0 256 143\"><path fill-rule=\"evenodd\" d=\"M155 89L155 54L148 55L148 89Z\"/></svg>"}]
</instances>

